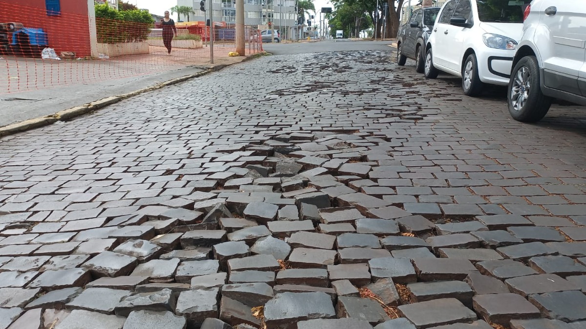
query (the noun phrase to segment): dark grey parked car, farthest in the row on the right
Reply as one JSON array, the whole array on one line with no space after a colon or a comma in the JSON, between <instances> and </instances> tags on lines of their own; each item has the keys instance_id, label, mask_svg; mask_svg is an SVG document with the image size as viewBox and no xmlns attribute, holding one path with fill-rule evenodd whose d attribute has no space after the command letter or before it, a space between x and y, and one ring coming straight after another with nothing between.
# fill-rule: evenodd
<instances>
[{"instance_id":1,"label":"dark grey parked car, farthest in the row on the right","mask_svg":"<svg viewBox=\"0 0 586 329\"><path fill-rule=\"evenodd\" d=\"M415 70L423 73L425 44L434 27L440 7L417 9L397 34L397 64L405 65L407 59L415 60Z\"/></svg>"}]
</instances>

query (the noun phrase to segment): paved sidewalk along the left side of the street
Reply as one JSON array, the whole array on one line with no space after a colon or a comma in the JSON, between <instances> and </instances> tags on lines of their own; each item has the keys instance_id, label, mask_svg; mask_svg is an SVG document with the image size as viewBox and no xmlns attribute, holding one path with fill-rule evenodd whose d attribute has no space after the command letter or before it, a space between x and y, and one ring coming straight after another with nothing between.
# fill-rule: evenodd
<instances>
[{"instance_id":1,"label":"paved sidewalk along the left side of the street","mask_svg":"<svg viewBox=\"0 0 586 329\"><path fill-rule=\"evenodd\" d=\"M0 90L8 91L0 92L4 109L0 127L240 63L250 56L228 57L233 49L222 45L214 50L214 64L209 47L173 49L172 56L166 56L163 47L151 47L149 54L92 61L6 57L0 60L8 68L8 78L0 78Z\"/></svg>"}]
</instances>

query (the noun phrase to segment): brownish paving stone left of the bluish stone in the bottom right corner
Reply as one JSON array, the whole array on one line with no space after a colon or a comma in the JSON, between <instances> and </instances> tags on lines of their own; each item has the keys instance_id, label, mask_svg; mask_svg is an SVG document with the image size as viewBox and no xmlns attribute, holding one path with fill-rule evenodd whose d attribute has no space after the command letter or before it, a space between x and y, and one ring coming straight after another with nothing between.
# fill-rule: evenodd
<instances>
[{"instance_id":1,"label":"brownish paving stone left of the bluish stone in the bottom right corner","mask_svg":"<svg viewBox=\"0 0 586 329\"><path fill-rule=\"evenodd\" d=\"M540 317L539 310L514 293L484 294L472 299L473 307L485 321L508 325L510 320Z\"/></svg>"}]
</instances>

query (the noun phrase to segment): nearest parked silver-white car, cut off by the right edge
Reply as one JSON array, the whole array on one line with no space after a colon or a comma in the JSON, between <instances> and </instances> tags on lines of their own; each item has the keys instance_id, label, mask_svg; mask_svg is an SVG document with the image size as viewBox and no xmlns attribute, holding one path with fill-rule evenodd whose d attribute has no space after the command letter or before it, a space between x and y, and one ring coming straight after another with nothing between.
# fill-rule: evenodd
<instances>
[{"instance_id":1,"label":"nearest parked silver-white car, cut off by the right edge","mask_svg":"<svg viewBox=\"0 0 586 329\"><path fill-rule=\"evenodd\" d=\"M552 98L586 105L586 2L534 0L524 17L507 92L511 116L539 121Z\"/></svg>"}]
</instances>

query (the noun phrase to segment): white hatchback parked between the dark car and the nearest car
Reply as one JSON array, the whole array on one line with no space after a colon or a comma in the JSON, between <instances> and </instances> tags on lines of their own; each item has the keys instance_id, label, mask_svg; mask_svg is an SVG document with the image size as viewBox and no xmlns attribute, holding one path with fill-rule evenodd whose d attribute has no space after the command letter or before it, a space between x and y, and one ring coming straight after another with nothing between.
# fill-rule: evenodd
<instances>
[{"instance_id":1,"label":"white hatchback parked between the dark car and the nearest car","mask_svg":"<svg viewBox=\"0 0 586 329\"><path fill-rule=\"evenodd\" d=\"M424 74L439 71L462 77L464 94L476 96L483 84L507 85L523 33L529 0L449 0L429 37Z\"/></svg>"}]
</instances>

